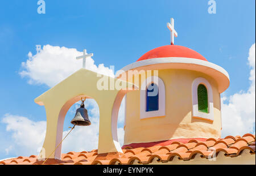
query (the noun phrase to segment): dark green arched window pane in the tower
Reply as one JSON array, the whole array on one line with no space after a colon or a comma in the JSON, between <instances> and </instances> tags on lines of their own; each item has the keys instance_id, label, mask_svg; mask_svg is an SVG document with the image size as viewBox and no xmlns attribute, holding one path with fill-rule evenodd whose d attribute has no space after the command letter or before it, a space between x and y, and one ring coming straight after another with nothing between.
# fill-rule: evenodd
<instances>
[{"instance_id":1,"label":"dark green arched window pane in the tower","mask_svg":"<svg viewBox=\"0 0 256 176\"><path fill-rule=\"evenodd\" d=\"M204 84L199 84L197 87L198 111L209 113L208 108L208 92Z\"/></svg>"}]
</instances>

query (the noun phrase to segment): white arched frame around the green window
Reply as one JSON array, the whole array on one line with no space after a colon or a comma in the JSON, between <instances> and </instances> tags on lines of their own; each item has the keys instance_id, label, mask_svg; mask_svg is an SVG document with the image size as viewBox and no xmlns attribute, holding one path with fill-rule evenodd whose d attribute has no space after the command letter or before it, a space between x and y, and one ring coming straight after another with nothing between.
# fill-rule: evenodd
<instances>
[{"instance_id":1,"label":"white arched frame around the green window","mask_svg":"<svg viewBox=\"0 0 256 176\"><path fill-rule=\"evenodd\" d=\"M208 94L208 113L204 113L199 111L198 109L198 100L197 100L197 88L199 84L203 84L207 88ZM209 81L205 78L196 78L193 80L192 83L192 117L193 118L201 118L206 119L208 121L214 120L214 113L213 113L213 93L212 93L212 86L210 85Z\"/></svg>"}]
</instances>

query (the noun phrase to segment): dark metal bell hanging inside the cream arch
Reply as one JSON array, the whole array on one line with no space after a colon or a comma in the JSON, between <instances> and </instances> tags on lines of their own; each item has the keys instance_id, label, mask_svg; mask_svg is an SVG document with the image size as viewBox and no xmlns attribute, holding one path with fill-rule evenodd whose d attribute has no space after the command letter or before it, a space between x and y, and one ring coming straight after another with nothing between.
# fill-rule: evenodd
<instances>
[{"instance_id":1,"label":"dark metal bell hanging inside the cream arch","mask_svg":"<svg viewBox=\"0 0 256 176\"><path fill-rule=\"evenodd\" d=\"M72 119L71 123L77 126L89 126L91 123L88 117L87 109L84 108L85 100L81 99L81 101L82 104L80 105L80 108L76 110L76 115Z\"/></svg>"}]
</instances>

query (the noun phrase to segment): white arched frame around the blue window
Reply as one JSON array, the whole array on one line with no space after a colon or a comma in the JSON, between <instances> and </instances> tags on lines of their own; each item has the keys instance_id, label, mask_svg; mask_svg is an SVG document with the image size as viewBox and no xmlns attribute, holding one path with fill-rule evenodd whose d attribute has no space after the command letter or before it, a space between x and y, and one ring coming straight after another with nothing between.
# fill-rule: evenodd
<instances>
[{"instance_id":1,"label":"white arched frame around the blue window","mask_svg":"<svg viewBox=\"0 0 256 176\"><path fill-rule=\"evenodd\" d=\"M146 111L147 105L147 87L149 84L154 83L158 85L158 110ZM163 117L166 115L166 90L164 82L158 76L150 76L143 81L141 85L141 97L140 97L140 118L150 118L150 117Z\"/></svg>"}]
</instances>

